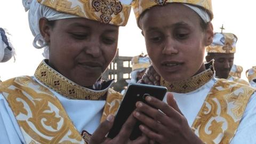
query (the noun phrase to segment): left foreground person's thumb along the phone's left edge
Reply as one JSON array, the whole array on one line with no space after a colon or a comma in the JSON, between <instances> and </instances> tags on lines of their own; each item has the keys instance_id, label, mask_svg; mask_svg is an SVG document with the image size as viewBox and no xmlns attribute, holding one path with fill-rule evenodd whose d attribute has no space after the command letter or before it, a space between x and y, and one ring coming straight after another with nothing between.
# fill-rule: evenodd
<instances>
[{"instance_id":1,"label":"left foreground person's thumb along the phone's left edge","mask_svg":"<svg viewBox=\"0 0 256 144\"><path fill-rule=\"evenodd\" d=\"M97 130L94 131L92 134L92 137L89 140L90 144L94 143L102 143L105 141L106 137L105 135L109 132L111 127L113 126L114 123L114 116L113 115L108 115L107 119L102 122Z\"/></svg>"}]
</instances>

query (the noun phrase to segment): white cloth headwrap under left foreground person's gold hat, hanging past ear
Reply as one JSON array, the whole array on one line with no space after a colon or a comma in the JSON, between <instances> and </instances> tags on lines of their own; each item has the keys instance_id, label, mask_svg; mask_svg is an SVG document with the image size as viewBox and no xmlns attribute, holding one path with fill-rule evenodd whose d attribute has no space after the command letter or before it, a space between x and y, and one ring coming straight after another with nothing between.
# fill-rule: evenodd
<instances>
[{"instance_id":1,"label":"white cloth headwrap under left foreground person's gold hat, hanging past ear","mask_svg":"<svg viewBox=\"0 0 256 144\"><path fill-rule=\"evenodd\" d=\"M32 34L35 36L33 46L36 47L36 49L42 49L44 47L43 56L46 59L49 59L49 46L44 41L44 38L40 33L39 20L41 18L46 18L47 20L60 20L67 18L77 18L77 16L54 11L47 6L39 4L37 0L22 0L22 4L25 7L25 11L29 10L29 27Z\"/></svg>"}]
</instances>

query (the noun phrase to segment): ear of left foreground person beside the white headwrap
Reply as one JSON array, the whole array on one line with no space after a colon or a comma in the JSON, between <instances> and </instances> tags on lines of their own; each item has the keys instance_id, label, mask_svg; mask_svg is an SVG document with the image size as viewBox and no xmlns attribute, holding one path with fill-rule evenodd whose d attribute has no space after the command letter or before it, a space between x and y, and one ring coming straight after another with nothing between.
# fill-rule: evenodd
<instances>
[{"instance_id":1,"label":"ear of left foreground person beside the white headwrap","mask_svg":"<svg viewBox=\"0 0 256 144\"><path fill-rule=\"evenodd\" d=\"M47 24L48 20L46 18L41 18L39 20L39 30L46 43L50 43L50 26Z\"/></svg>"}]
</instances>

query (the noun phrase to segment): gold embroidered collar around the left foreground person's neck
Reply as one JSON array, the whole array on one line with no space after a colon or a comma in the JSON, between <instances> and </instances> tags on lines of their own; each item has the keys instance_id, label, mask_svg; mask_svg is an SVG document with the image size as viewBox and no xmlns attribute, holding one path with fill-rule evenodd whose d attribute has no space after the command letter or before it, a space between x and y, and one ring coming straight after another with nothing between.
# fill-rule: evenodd
<instances>
[{"instance_id":1,"label":"gold embroidered collar around the left foreground person's neck","mask_svg":"<svg viewBox=\"0 0 256 144\"><path fill-rule=\"evenodd\" d=\"M109 84L106 89L100 91L87 89L86 87L80 86L62 76L47 65L45 61L46 60L43 60L36 69L34 74L35 78L68 99L100 100L111 86L111 84Z\"/></svg>"}]
</instances>

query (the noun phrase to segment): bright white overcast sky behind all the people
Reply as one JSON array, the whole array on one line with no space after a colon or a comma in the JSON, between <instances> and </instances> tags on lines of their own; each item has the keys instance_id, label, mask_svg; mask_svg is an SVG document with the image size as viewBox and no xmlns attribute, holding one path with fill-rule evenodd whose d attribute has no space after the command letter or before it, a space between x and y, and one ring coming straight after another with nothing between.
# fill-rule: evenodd
<instances>
[{"instance_id":1,"label":"bright white overcast sky behind all the people","mask_svg":"<svg viewBox=\"0 0 256 144\"><path fill-rule=\"evenodd\" d=\"M33 75L38 64L44 59L43 50L35 49L32 45L33 35L28 26L27 12L21 1L0 1L0 27L6 28L12 35L12 44L16 50L16 61L10 60L0 63L1 80L21 76ZM256 65L256 1L255 0L212 0L214 31L220 32L223 24L225 33L234 33L238 37L235 62L244 68L242 78L246 79L245 71ZM146 53L144 39L131 12L126 27L119 32L119 55L134 56Z\"/></svg>"}]
</instances>

